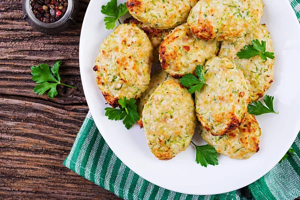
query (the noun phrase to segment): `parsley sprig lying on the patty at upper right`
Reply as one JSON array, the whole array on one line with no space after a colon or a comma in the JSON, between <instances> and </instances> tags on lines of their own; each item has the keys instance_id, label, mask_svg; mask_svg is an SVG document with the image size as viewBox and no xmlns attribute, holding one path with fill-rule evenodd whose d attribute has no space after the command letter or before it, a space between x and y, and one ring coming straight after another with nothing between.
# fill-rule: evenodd
<instances>
[{"instance_id":1,"label":"parsley sprig lying on the patty at upper right","mask_svg":"<svg viewBox=\"0 0 300 200\"><path fill-rule=\"evenodd\" d=\"M263 60L267 60L267 57L270 59L274 59L274 53L265 51L266 42L261 40L261 43L258 39L253 39L251 41L252 45L245 45L243 49L240 49L239 52L236 53L238 58L247 58L253 57L255 55L259 55Z\"/></svg>"}]
</instances>

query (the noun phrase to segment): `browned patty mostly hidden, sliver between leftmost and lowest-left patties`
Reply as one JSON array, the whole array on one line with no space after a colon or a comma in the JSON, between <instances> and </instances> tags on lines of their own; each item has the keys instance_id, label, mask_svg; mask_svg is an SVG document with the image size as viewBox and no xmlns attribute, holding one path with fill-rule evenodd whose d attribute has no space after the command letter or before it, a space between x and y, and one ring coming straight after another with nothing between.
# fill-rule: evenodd
<instances>
[{"instance_id":1,"label":"browned patty mostly hidden, sliver between leftmost and lowest-left patties","mask_svg":"<svg viewBox=\"0 0 300 200\"><path fill-rule=\"evenodd\" d=\"M170 78L171 77L169 76L169 74L163 69L158 69L155 71L155 73L153 75L151 75L148 88L143 93L141 93L141 95L137 99L137 112L140 117L139 120L137 121L137 123L140 126L140 128L143 127L143 125L142 125L142 110L143 110L144 104L148 101L150 95L155 91L155 89L158 87L158 85L161 82L163 82L167 79L170 79Z\"/></svg>"}]
</instances>

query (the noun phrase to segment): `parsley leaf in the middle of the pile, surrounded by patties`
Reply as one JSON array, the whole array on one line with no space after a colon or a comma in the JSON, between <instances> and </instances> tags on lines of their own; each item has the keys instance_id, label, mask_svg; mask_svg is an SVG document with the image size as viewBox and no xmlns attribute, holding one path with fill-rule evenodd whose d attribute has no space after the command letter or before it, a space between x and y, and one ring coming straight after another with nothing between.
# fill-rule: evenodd
<instances>
[{"instance_id":1,"label":"parsley leaf in the middle of the pile, surrounded by patties","mask_svg":"<svg viewBox=\"0 0 300 200\"><path fill-rule=\"evenodd\" d=\"M197 65L194 73L198 76L191 73L186 73L182 78L179 79L179 82L186 87L190 87L188 89L189 93L194 93L195 91L200 91L203 84L205 83L205 76L204 76L204 68L201 65Z\"/></svg>"}]
</instances>

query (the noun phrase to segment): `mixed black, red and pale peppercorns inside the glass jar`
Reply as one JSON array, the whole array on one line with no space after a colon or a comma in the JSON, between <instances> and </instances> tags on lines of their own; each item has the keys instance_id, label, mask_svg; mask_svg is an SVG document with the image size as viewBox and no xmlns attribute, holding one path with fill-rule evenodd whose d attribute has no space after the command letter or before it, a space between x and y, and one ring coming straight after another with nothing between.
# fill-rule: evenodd
<instances>
[{"instance_id":1,"label":"mixed black, red and pale peppercorns inside the glass jar","mask_svg":"<svg viewBox=\"0 0 300 200\"><path fill-rule=\"evenodd\" d=\"M66 12L67 0L30 0L31 10L36 18L45 23L59 20Z\"/></svg>"}]
</instances>

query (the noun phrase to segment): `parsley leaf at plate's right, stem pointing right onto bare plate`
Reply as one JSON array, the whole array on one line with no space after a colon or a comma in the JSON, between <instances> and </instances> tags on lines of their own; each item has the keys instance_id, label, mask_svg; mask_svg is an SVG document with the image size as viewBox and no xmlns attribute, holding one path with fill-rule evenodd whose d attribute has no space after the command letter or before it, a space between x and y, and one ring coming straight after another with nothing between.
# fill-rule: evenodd
<instances>
[{"instance_id":1,"label":"parsley leaf at plate's right, stem pointing right onto bare plate","mask_svg":"<svg viewBox=\"0 0 300 200\"><path fill-rule=\"evenodd\" d=\"M263 101L266 106L264 106L260 101L252 102L252 104L248 105L248 112L254 115L260 115L264 113L278 114L279 112L274 111L273 100L274 96L265 95Z\"/></svg>"}]
</instances>

